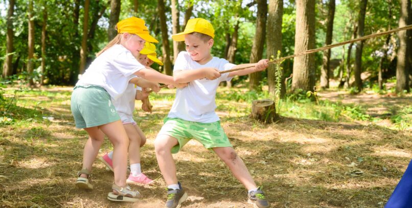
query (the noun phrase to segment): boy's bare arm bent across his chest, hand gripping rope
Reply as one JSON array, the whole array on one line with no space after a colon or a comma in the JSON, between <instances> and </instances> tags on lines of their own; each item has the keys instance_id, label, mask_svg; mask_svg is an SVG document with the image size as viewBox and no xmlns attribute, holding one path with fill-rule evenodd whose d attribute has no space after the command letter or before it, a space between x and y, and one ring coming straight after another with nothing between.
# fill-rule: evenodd
<instances>
[{"instance_id":1,"label":"boy's bare arm bent across his chest, hand gripping rope","mask_svg":"<svg viewBox=\"0 0 412 208\"><path fill-rule=\"evenodd\" d=\"M195 70L175 70L173 72L173 80L177 83L189 83L203 78L215 80L219 76L219 70L211 67L205 67Z\"/></svg>"}]
</instances>

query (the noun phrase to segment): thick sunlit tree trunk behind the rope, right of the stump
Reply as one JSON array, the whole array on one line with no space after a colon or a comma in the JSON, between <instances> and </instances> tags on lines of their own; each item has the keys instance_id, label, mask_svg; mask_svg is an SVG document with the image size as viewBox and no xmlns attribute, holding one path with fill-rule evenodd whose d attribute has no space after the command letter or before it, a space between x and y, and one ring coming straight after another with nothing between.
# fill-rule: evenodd
<instances>
[{"instance_id":1,"label":"thick sunlit tree trunk behind the rope, right of the stump","mask_svg":"<svg viewBox=\"0 0 412 208\"><path fill-rule=\"evenodd\" d=\"M315 0L296 1L295 51L315 48ZM295 57L293 60L292 91L312 91L315 79L315 55Z\"/></svg>"}]
</instances>

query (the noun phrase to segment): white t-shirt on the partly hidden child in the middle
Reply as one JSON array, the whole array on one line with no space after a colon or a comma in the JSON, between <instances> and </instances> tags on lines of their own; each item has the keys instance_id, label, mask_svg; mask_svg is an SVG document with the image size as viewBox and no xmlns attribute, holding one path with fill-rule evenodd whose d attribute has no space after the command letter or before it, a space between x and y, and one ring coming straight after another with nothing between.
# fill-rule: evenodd
<instances>
[{"instance_id":1,"label":"white t-shirt on the partly hidden child in the middle","mask_svg":"<svg viewBox=\"0 0 412 208\"><path fill-rule=\"evenodd\" d=\"M130 79L132 77L135 76L131 75ZM116 111L118 112L122 122L134 122L133 110L134 102L136 99L136 90L142 90L142 88L129 83L126 87L126 90L120 97L118 97L117 99L111 99L111 102L115 106Z\"/></svg>"}]
</instances>

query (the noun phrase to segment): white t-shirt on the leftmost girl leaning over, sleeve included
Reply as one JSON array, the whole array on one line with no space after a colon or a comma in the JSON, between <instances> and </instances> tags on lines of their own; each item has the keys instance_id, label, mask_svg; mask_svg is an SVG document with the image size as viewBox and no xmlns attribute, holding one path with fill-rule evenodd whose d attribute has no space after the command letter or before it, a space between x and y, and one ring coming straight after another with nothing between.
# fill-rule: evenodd
<instances>
[{"instance_id":1,"label":"white t-shirt on the leftmost girl leaning over, sleeve included","mask_svg":"<svg viewBox=\"0 0 412 208\"><path fill-rule=\"evenodd\" d=\"M101 86L117 99L126 89L129 76L144 68L123 45L113 45L90 64L76 86Z\"/></svg>"}]
</instances>

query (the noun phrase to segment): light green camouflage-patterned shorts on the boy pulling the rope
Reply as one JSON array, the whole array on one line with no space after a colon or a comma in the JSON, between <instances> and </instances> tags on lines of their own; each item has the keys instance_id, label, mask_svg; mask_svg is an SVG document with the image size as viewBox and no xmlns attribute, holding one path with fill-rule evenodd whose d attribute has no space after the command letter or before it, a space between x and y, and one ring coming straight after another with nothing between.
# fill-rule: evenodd
<instances>
[{"instance_id":1,"label":"light green camouflage-patterned shorts on the boy pulling the rope","mask_svg":"<svg viewBox=\"0 0 412 208\"><path fill-rule=\"evenodd\" d=\"M191 139L197 140L207 149L232 147L231 142L220 126L220 121L200 123L179 118L165 118L159 135L169 135L177 139L179 144L172 148L172 153L179 152Z\"/></svg>"}]
</instances>

